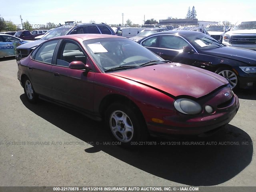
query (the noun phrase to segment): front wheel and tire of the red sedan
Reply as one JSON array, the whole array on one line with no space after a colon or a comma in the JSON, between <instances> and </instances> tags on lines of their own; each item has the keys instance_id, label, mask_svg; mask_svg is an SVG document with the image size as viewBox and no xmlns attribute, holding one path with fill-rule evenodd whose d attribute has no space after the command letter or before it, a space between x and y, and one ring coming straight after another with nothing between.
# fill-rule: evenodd
<instances>
[{"instance_id":1,"label":"front wheel and tire of the red sedan","mask_svg":"<svg viewBox=\"0 0 256 192\"><path fill-rule=\"evenodd\" d=\"M105 112L105 124L112 138L123 147L136 146L136 142L145 141L149 136L144 117L134 105L111 104Z\"/></svg>"}]
</instances>

